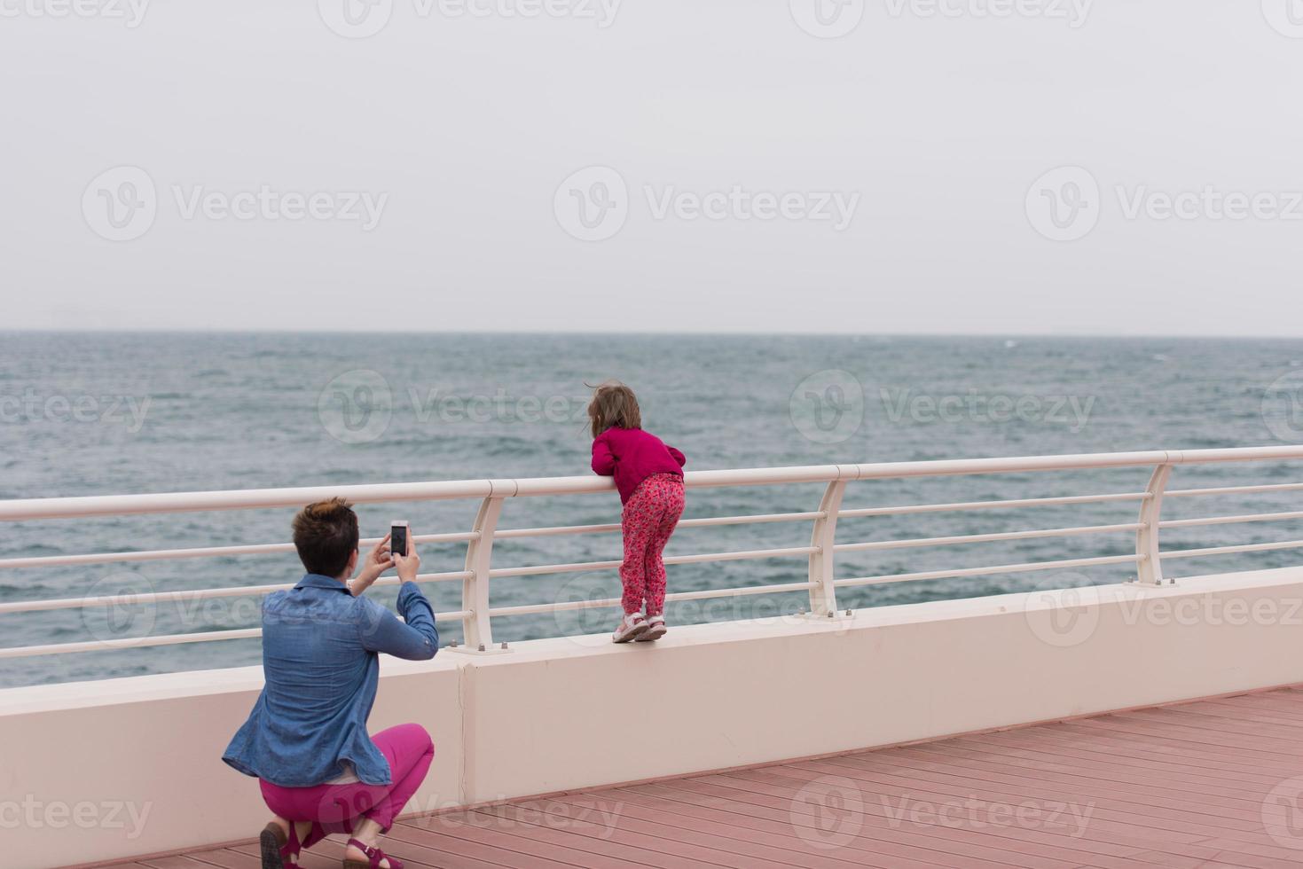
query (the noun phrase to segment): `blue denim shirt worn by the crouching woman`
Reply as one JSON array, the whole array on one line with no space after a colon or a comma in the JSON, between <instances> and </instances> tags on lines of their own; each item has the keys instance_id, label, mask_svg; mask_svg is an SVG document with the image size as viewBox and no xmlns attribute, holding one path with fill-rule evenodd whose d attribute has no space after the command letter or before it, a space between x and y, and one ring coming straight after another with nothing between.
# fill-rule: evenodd
<instances>
[{"instance_id":1,"label":"blue denim shirt worn by the crouching woman","mask_svg":"<svg viewBox=\"0 0 1303 869\"><path fill-rule=\"evenodd\" d=\"M426 661L439 650L434 611L414 582L399 591L407 624L339 580L309 573L262 605L266 687L222 760L281 787L344 775L390 784L390 763L366 732L384 651Z\"/></svg>"}]
</instances>

